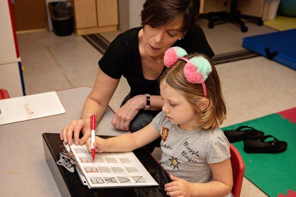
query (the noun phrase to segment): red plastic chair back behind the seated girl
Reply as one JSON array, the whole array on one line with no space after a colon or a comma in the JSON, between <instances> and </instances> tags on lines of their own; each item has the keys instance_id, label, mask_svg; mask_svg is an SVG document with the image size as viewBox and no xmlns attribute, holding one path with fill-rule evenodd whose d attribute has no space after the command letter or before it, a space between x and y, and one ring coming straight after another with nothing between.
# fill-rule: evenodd
<instances>
[{"instance_id":1,"label":"red plastic chair back behind the seated girl","mask_svg":"<svg viewBox=\"0 0 296 197\"><path fill-rule=\"evenodd\" d=\"M230 161L232 166L233 186L232 194L239 197L242 189L243 178L245 173L245 164L238 150L230 143Z\"/></svg>"}]
</instances>

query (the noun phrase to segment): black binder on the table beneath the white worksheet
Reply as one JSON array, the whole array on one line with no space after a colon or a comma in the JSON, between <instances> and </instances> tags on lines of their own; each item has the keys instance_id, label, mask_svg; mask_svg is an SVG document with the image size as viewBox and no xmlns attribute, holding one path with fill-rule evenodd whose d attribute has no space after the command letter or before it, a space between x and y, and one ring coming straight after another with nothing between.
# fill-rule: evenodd
<instances>
[{"instance_id":1,"label":"black binder on the table beneath the white worksheet","mask_svg":"<svg viewBox=\"0 0 296 197\"><path fill-rule=\"evenodd\" d=\"M46 162L63 197L166 197L164 185L171 182L171 179L145 148L134 150L133 153L159 186L88 189L82 184L76 171L70 172L56 164L60 159L60 152L65 150L60 134L43 133L42 140Z\"/></svg>"}]
</instances>

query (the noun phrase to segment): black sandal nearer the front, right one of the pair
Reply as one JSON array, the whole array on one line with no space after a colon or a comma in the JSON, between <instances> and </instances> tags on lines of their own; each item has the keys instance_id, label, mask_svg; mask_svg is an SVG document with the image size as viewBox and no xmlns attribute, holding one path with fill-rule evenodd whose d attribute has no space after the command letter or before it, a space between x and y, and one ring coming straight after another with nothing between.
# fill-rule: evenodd
<instances>
[{"instance_id":1,"label":"black sandal nearer the front, right one of the pair","mask_svg":"<svg viewBox=\"0 0 296 197\"><path fill-rule=\"evenodd\" d=\"M264 141L273 137L273 141ZM265 135L259 140L245 140L244 150L246 153L281 153L287 149L287 142L279 141L272 135Z\"/></svg>"}]
</instances>

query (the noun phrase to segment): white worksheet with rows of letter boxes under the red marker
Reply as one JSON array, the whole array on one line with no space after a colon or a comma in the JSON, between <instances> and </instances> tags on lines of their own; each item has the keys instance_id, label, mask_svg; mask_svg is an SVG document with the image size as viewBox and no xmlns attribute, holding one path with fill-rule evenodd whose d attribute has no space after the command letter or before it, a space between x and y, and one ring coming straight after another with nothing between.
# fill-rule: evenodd
<instances>
[{"instance_id":1,"label":"white worksheet with rows of letter boxes under the red marker","mask_svg":"<svg viewBox=\"0 0 296 197\"><path fill-rule=\"evenodd\" d=\"M92 162L85 145L70 148L89 188L158 186L133 152L96 153Z\"/></svg>"}]
</instances>

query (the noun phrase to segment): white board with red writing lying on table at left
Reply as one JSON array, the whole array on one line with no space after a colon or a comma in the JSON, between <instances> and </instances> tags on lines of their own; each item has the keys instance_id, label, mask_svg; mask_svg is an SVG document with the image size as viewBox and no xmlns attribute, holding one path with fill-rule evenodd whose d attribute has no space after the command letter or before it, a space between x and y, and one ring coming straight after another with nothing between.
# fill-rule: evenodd
<instances>
[{"instance_id":1,"label":"white board with red writing lying on table at left","mask_svg":"<svg viewBox=\"0 0 296 197\"><path fill-rule=\"evenodd\" d=\"M0 125L66 113L56 92L0 100Z\"/></svg>"}]
</instances>

